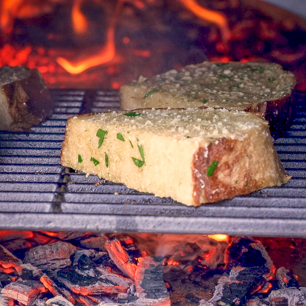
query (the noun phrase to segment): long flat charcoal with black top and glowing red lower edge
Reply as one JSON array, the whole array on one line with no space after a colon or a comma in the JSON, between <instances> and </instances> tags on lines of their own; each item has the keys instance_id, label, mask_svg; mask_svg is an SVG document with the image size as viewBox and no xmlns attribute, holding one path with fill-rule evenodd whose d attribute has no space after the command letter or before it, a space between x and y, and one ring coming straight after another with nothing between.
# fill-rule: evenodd
<instances>
[{"instance_id":1,"label":"long flat charcoal with black top and glowing red lower edge","mask_svg":"<svg viewBox=\"0 0 306 306\"><path fill-rule=\"evenodd\" d=\"M74 293L88 295L101 293L124 293L133 283L131 279L111 272L110 268L97 266L80 270L67 267L56 272L58 280Z\"/></svg>"}]
</instances>

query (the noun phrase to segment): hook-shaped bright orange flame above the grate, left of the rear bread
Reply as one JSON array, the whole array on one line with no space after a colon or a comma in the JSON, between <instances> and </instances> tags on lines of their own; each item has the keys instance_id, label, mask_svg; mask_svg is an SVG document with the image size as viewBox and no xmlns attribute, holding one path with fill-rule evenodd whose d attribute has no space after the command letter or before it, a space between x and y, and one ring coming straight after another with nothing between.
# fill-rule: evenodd
<instances>
[{"instance_id":1,"label":"hook-shaped bright orange flame above the grate, left of the rear bread","mask_svg":"<svg viewBox=\"0 0 306 306\"><path fill-rule=\"evenodd\" d=\"M76 65L73 65L71 62L67 61L65 58L62 57L58 57L56 61L68 72L72 74L77 74L83 72L88 68L111 61L115 57L115 54L116 54L116 49L114 41L114 27L110 27L110 29L107 32L106 45L99 54L91 58L88 58L82 62L79 62Z\"/></svg>"}]
</instances>

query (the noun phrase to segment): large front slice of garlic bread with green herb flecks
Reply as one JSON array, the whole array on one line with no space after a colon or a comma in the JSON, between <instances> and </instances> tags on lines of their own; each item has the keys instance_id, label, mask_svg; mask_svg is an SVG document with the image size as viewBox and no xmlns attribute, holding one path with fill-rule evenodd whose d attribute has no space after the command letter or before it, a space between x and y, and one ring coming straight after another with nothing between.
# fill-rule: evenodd
<instances>
[{"instance_id":1,"label":"large front slice of garlic bread with green herb flecks","mask_svg":"<svg viewBox=\"0 0 306 306\"><path fill-rule=\"evenodd\" d=\"M289 180L267 121L225 108L152 108L71 117L61 162L195 206Z\"/></svg>"}]
</instances>

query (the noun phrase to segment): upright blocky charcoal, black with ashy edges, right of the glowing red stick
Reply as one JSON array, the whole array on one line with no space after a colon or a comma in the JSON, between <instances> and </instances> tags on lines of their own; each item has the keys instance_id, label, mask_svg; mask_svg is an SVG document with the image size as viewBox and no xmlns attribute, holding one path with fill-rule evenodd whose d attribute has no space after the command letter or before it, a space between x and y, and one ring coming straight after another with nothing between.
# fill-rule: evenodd
<instances>
[{"instance_id":1,"label":"upright blocky charcoal, black with ashy edges, right of the glowing red stick","mask_svg":"<svg viewBox=\"0 0 306 306\"><path fill-rule=\"evenodd\" d=\"M163 281L162 257L140 257L135 273L136 296L169 302L169 293ZM156 303L158 303L156 301Z\"/></svg>"}]
</instances>

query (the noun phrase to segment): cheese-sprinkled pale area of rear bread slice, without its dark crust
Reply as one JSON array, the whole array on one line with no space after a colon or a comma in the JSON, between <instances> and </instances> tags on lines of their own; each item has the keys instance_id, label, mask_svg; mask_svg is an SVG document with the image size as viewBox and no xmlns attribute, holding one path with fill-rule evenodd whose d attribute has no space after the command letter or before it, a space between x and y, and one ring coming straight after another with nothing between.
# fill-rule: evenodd
<instances>
[{"instance_id":1,"label":"cheese-sprinkled pale area of rear bread slice, without its dark crust","mask_svg":"<svg viewBox=\"0 0 306 306\"><path fill-rule=\"evenodd\" d=\"M296 80L281 65L203 62L121 86L121 109L225 107L265 114L267 101L288 97Z\"/></svg>"}]
</instances>

